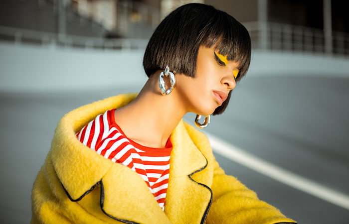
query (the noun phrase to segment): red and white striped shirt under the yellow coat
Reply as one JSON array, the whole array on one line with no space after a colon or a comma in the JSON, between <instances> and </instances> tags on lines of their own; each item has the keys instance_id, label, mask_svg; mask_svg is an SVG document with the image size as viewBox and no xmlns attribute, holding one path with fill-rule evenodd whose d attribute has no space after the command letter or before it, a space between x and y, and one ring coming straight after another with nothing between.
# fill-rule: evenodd
<instances>
[{"instance_id":1,"label":"red and white striped shirt under the yellow coat","mask_svg":"<svg viewBox=\"0 0 349 224\"><path fill-rule=\"evenodd\" d=\"M170 138L165 148L140 145L127 138L115 123L114 111L99 114L76 133L77 138L105 158L136 171L164 210L172 151Z\"/></svg>"}]
</instances>

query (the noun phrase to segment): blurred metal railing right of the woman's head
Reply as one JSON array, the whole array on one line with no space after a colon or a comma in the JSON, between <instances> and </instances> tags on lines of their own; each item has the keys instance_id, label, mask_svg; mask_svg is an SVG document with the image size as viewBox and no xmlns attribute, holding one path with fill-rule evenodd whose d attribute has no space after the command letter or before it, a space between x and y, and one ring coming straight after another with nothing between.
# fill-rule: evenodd
<instances>
[{"instance_id":1,"label":"blurred metal railing right of the woman's head","mask_svg":"<svg viewBox=\"0 0 349 224\"><path fill-rule=\"evenodd\" d=\"M330 51L324 30L282 23L243 23L254 49L349 56L349 34L332 32Z\"/></svg>"}]
</instances>

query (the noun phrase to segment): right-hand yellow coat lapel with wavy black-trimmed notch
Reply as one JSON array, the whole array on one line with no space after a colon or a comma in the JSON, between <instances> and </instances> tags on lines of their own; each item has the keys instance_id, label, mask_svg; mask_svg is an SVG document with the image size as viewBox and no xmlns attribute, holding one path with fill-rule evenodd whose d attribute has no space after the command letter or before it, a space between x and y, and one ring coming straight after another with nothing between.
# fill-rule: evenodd
<instances>
[{"instance_id":1,"label":"right-hand yellow coat lapel with wavy black-trimmed notch","mask_svg":"<svg viewBox=\"0 0 349 224\"><path fill-rule=\"evenodd\" d=\"M172 223L204 223L212 200L211 190L191 175L204 169L207 160L190 138L184 122L171 134L173 151L165 213Z\"/></svg>"}]
</instances>

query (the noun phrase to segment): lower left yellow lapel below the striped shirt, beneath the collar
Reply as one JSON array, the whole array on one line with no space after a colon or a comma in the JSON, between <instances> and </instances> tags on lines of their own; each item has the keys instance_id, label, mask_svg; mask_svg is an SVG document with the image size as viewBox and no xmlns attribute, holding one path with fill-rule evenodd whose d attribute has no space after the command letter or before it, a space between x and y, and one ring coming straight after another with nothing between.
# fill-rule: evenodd
<instances>
[{"instance_id":1,"label":"lower left yellow lapel below the striped shirt, beneath the collar","mask_svg":"<svg viewBox=\"0 0 349 224\"><path fill-rule=\"evenodd\" d=\"M102 178L101 209L109 217L124 223L171 223L145 181L122 164L113 165Z\"/></svg>"}]
</instances>

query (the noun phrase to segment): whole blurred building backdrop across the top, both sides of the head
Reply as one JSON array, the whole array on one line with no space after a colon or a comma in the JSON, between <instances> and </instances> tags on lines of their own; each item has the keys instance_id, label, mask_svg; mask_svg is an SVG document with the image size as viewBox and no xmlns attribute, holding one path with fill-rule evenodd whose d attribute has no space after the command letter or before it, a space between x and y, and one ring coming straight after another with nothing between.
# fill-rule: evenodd
<instances>
[{"instance_id":1,"label":"whole blurred building backdrop across the top, both sides of the head","mask_svg":"<svg viewBox=\"0 0 349 224\"><path fill-rule=\"evenodd\" d=\"M2 0L0 38L82 47L144 47L181 4L222 9L249 30L254 49L349 55L348 1Z\"/></svg>"}]
</instances>

